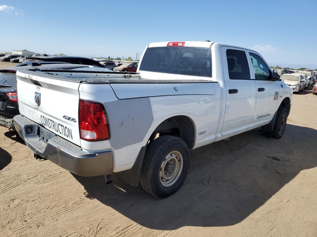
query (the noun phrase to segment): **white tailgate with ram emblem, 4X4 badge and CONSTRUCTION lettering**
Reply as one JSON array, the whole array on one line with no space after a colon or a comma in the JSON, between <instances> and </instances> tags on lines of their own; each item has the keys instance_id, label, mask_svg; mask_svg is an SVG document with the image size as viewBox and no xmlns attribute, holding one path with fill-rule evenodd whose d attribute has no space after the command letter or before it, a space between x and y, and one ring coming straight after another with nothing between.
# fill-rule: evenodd
<instances>
[{"instance_id":1,"label":"white tailgate with ram emblem, 4X4 badge and CONSTRUCTION lettering","mask_svg":"<svg viewBox=\"0 0 317 237\"><path fill-rule=\"evenodd\" d=\"M44 77L45 76L45 77ZM78 125L80 83L16 72L20 113L68 141L81 145ZM40 136L43 140L45 137Z\"/></svg>"}]
</instances>

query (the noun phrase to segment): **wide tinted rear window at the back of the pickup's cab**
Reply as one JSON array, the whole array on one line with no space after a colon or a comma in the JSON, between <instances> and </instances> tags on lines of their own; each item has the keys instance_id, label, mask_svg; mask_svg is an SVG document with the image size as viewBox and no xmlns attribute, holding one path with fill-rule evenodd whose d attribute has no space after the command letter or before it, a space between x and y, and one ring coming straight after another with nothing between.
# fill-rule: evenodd
<instances>
[{"instance_id":1,"label":"wide tinted rear window at the back of the pickup's cab","mask_svg":"<svg viewBox=\"0 0 317 237\"><path fill-rule=\"evenodd\" d=\"M186 46L148 48L139 70L211 77L211 50Z\"/></svg>"}]
</instances>

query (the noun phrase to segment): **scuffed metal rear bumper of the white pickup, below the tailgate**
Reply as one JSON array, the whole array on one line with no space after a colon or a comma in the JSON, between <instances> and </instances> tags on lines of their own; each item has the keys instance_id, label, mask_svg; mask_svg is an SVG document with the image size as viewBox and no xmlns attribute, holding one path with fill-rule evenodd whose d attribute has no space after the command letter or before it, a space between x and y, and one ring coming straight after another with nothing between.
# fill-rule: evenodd
<instances>
[{"instance_id":1,"label":"scuffed metal rear bumper of the white pickup, below the tailgate","mask_svg":"<svg viewBox=\"0 0 317 237\"><path fill-rule=\"evenodd\" d=\"M16 131L23 138L25 144L37 155L80 176L112 174L113 154L111 151L85 152L79 146L56 136L22 115L16 115L13 120ZM30 132L31 130L32 132ZM45 140L42 139L42 135L45 136ZM46 140L46 138L48 139Z\"/></svg>"}]
</instances>

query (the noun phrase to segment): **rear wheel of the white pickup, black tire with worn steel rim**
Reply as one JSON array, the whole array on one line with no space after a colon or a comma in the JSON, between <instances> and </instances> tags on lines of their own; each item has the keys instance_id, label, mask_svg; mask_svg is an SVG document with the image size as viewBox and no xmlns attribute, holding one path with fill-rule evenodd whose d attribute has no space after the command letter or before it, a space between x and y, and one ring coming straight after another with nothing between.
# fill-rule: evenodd
<instances>
[{"instance_id":1,"label":"rear wheel of the white pickup, black tire with worn steel rim","mask_svg":"<svg viewBox=\"0 0 317 237\"><path fill-rule=\"evenodd\" d=\"M161 136L146 148L140 183L154 197L165 198L183 185L189 167L189 149L178 137Z\"/></svg>"}]
</instances>

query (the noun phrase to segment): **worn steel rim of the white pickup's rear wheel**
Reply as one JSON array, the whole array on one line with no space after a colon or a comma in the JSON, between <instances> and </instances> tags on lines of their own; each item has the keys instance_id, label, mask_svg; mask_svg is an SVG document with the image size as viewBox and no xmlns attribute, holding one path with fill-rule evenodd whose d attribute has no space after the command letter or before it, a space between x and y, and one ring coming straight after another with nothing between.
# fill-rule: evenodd
<instances>
[{"instance_id":1,"label":"worn steel rim of the white pickup's rear wheel","mask_svg":"<svg viewBox=\"0 0 317 237\"><path fill-rule=\"evenodd\" d=\"M183 156L179 151L172 151L162 161L159 180L165 187L175 184L183 170Z\"/></svg>"}]
</instances>

